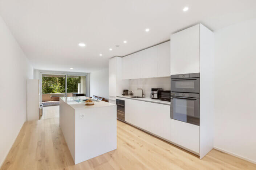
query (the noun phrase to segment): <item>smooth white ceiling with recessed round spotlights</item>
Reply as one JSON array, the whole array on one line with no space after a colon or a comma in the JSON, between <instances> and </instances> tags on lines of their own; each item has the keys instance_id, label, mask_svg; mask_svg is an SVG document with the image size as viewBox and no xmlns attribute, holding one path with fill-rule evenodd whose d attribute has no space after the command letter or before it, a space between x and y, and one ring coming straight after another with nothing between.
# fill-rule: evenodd
<instances>
[{"instance_id":1,"label":"smooth white ceiling with recessed round spotlights","mask_svg":"<svg viewBox=\"0 0 256 170\"><path fill-rule=\"evenodd\" d=\"M0 14L35 69L93 72L199 22L255 18L256 0L0 0Z\"/></svg>"}]
</instances>

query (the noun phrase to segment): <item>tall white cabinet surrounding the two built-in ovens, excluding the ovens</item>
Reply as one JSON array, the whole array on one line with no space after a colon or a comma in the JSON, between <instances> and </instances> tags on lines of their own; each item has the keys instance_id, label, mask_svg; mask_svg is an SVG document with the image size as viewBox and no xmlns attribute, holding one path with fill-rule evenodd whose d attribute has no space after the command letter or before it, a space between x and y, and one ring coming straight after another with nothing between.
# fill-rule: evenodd
<instances>
[{"instance_id":1,"label":"tall white cabinet surrounding the two built-in ovens, excluding the ovens","mask_svg":"<svg viewBox=\"0 0 256 170\"><path fill-rule=\"evenodd\" d=\"M213 148L214 33L198 24L172 34L170 47L171 75L200 73L200 126L172 119L171 141L198 153L201 159ZM177 133L180 129L183 133Z\"/></svg>"}]
</instances>

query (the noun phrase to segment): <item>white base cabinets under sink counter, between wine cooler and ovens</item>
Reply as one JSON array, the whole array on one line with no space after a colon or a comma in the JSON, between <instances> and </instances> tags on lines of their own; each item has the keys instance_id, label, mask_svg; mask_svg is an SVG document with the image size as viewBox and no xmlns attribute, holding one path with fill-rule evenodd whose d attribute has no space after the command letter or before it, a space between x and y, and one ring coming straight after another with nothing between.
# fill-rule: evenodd
<instances>
[{"instance_id":1,"label":"white base cabinets under sink counter, between wine cooler and ovens","mask_svg":"<svg viewBox=\"0 0 256 170\"><path fill-rule=\"evenodd\" d=\"M170 140L170 105L125 99L125 121Z\"/></svg>"}]
</instances>

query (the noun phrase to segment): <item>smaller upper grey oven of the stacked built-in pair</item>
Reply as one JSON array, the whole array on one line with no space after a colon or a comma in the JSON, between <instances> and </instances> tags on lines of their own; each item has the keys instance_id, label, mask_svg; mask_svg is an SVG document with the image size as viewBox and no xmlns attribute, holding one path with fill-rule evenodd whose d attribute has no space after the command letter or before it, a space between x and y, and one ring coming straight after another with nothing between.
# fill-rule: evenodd
<instances>
[{"instance_id":1,"label":"smaller upper grey oven of the stacked built-in pair","mask_svg":"<svg viewBox=\"0 0 256 170\"><path fill-rule=\"evenodd\" d=\"M171 75L171 92L199 93L200 74Z\"/></svg>"}]
</instances>

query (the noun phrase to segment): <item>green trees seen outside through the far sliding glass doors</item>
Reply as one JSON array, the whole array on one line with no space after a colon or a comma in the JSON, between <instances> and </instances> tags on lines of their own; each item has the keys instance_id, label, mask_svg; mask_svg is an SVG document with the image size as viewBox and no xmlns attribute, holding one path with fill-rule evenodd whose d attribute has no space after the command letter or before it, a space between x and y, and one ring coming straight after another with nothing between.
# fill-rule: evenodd
<instances>
[{"instance_id":1,"label":"green trees seen outside through the far sliding glass doors","mask_svg":"<svg viewBox=\"0 0 256 170\"><path fill-rule=\"evenodd\" d=\"M77 93L81 77L68 77L67 93ZM65 77L42 77L42 93L65 93Z\"/></svg>"}]
</instances>

